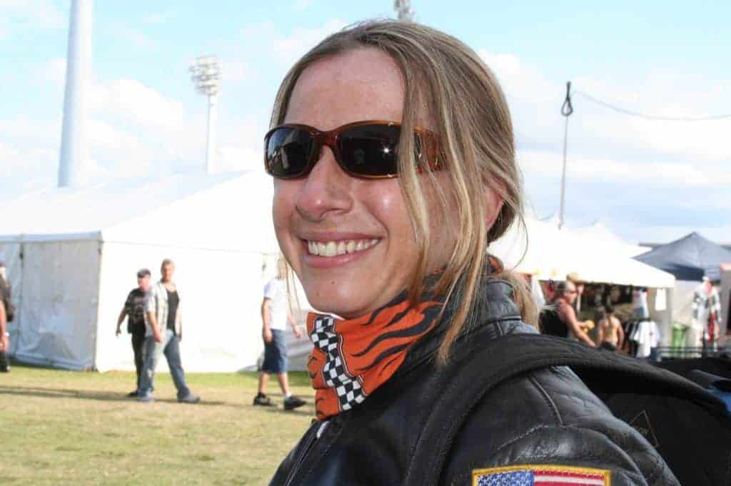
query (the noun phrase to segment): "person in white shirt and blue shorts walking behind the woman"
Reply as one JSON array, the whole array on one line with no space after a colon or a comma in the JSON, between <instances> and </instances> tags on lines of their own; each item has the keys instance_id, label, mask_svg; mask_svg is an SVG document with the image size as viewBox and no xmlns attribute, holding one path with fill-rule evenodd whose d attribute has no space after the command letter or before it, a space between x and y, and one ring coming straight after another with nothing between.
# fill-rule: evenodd
<instances>
[{"instance_id":1,"label":"person in white shirt and blue shorts walking behind the woman","mask_svg":"<svg viewBox=\"0 0 731 486\"><path fill-rule=\"evenodd\" d=\"M295 331L295 337L300 339L302 331L292 319L289 312L289 301L287 298L287 263L283 258L277 261L277 275L264 286L264 298L262 299L262 339L264 339L264 363L259 377L259 393L254 397L254 405L272 405L271 399L266 394L269 375L276 374L279 380L279 387L284 394L284 409L293 410L303 406L306 402L301 398L293 396L289 392L289 380L287 379L287 344L284 341L284 330L287 323Z\"/></svg>"}]
</instances>

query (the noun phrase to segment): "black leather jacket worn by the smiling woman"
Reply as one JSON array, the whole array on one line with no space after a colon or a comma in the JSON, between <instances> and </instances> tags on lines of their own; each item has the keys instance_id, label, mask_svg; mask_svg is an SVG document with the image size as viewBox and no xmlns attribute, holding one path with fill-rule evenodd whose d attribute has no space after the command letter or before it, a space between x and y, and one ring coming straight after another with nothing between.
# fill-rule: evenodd
<instances>
[{"instance_id":1,"label":"black leather jacket worn by the smiling woman","mask_svg":"<svg viewBox=\"0 0 731 486\"><path fill-rule=\"evenodd\" d=\"M477 325L455 344L454 360L488 340L536 332L520 322L509 284L491 280L482 293ZM433 386L439 342L438 326L363 404L314 422L270 485L403 485L431 404L445 393ZM613 486L678 485L656 450L565 367L524 374L488 392L456 436L436 483L471 485L474 469L520 464L607 469Z\"/></svg>"}]
</instances>

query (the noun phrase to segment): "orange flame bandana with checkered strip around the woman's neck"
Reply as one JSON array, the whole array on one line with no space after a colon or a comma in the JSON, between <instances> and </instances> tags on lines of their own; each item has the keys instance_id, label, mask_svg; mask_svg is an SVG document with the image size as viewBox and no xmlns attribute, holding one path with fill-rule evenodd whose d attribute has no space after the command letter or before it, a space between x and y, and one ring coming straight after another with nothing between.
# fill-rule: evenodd
<instances>
[{"instance_id":1,"label":"orange flame bandana with checkered strip around the woman's neck","mask_svg":"<svg viewBox=\"0 0 731 486\"><path fill-rule=\"evenodd\" d=\"M412 344L433 328L441 307L425 301L410 308L404 299L352 320L310 313L307 333L314 350L307 369L317 419L352 409L383 385Z\"/></svg>"}]
</instances>

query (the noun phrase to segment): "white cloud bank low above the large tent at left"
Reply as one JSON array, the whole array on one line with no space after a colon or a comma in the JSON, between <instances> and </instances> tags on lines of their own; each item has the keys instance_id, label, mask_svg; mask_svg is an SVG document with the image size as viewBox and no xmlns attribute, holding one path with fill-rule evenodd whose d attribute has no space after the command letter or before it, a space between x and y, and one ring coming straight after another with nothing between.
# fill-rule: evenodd
<instances>
[{"instance_id":1,"label":"white cloud bank low above the large tent at left","mask_svg":"<svg viewBox=\"0 0 731 486\"><path fill-rule=\"evenodd\" d=\"M227 112L219 112L221 115L217 169L260 168L260 138L265 127L254 120L227 123ZM182 101L139 80L92 83L88 93L88 161L84 179L101 182L202 171L205 124L205 113L191 112ZM0 195L7 197L55 185L60 143L60 117L0 120L0 178L4 181Z\"/></svg>"}]
</instances>

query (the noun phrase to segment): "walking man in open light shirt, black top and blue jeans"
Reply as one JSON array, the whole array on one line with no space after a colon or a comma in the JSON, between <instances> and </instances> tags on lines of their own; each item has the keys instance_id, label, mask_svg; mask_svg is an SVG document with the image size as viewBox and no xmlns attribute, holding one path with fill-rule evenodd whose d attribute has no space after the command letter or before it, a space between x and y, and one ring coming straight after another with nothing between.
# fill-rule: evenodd
<instances>
[{"instance_id":1,"label":"walking man in open light shirt, black top and blue jeans","mask_svg":"<svg viewBox=\"0 0 731 486\"><path fill-rule=\"evenodd\" d=\"M145 312L147 326L145 331L145 364L140 377L139 401L155 401L152 396L155 368L164 354L167 367L178 389L178 401L195 404L200 396L192 393L185 382L185 371L181 363L180 342L183 339L183 318L181 313L181 296L173 282L175 263L165 258L160 267L162 279L152 286L148 293Z\"/></svg>"}]
</instances>

